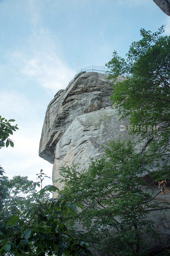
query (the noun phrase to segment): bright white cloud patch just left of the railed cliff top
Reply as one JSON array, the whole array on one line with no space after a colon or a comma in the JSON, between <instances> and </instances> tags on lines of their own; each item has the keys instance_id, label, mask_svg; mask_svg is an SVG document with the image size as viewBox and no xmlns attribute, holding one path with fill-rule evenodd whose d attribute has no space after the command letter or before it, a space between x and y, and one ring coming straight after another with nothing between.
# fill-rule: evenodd
<instances>
[{"instance_id":1,"label":"bright white cloud patch just left of the railed cliff top","mask_svg":"<svg viewBox=\"0 0 170 256\"><path fill-rule=\"evenodd\" d=\"M25 60L22 72L54 93L65 88L75 75L54 52L35 52L32 58Z\"/></svg>"}]
</instances>

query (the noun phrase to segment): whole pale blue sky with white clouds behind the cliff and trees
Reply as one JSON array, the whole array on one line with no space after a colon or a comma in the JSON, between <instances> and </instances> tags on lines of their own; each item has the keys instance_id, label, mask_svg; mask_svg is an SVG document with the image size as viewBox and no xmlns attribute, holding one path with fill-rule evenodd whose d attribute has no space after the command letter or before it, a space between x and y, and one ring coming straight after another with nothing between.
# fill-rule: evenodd
<instances>
[{"instance_id":1,"label":"whole pale blue sky with white clouds behind the cliff and trees","mask_svg":"<svg viewBox=\"0 0 170 256\"><path fill-rule=\"evenodd\" d=\"M122 57L140 28L156 31L170 17L152 0L0 0L0 115L16 119L14 148L1 149L6 175L36 179L52 164L38 156L46 107L79 68ZM47 181L48 183L49 181Z\"/></svg>"}]
</instances>

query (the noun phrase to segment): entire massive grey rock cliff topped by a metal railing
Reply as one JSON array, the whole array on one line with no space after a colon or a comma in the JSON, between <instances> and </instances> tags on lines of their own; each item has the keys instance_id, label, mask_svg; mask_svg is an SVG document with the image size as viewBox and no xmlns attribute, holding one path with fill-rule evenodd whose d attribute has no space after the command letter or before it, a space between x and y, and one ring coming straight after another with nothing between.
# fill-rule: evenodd
<instances>
[{"instance_id":1,"label":"entire massive grey rock cliff topped by a metal railing","mask_svg":"<svg viewBox=\"0 0 170 256\"><path fill-rule=\"evenodd\" d=\"M120 125L126 126L127 120L120 121L120 116L111 108L112 88L107 77L107 74L82 72L65 90L57 92L47 107L39 156L53 164L53 184L58 188L62 188L58 181L61 166L74 163L86 169L90 158L103 153L101 146L110 140L130 137L127 130L120 131ZM143 146L138 144L138 150ZM166 198L160 196L158 200L166 202ZM169 246L169 217L169 212L153 212L150 216L164 234L165 246Z\"/></svg>"}]
</instances>

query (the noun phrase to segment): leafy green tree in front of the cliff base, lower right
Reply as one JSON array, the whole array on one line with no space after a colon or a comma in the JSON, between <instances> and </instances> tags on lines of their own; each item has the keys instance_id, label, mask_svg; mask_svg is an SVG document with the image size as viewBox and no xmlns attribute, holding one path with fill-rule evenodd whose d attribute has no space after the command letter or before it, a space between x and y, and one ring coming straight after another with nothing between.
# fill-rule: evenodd
<instances>
[{"instance_id":1,"label":"leafy green tree in front of the cliff base, lower right","mask_svg":"<svg viewBox=\"0 0 170 256\"><path fill-rule=\"evenodd\" d=\"M74 216L67 215L70 232L85 239L101 256L147 255L147 237L150 242L157 237L149 214L170 209L169 204L156 200L168 192L166 162L159 166L154 155L137 153L131 141L112 141L88 170L73 165L60 172L66 191L75 194L76 202L84 207ZM76 229L76 222L81 228Z\"/></svg>"}]
</instances>

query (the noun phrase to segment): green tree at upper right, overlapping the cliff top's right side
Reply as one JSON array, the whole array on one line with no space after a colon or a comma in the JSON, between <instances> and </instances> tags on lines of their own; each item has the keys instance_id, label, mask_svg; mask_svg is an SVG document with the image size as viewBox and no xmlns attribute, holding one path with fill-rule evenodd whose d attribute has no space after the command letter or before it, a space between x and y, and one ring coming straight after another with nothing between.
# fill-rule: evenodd
<instances>
[{"instance_id":1,"label":"green tree at upper right, overlapping the cliff top's right side","mask_svg":"<svg viewBox=\"0 0 170 256\"><path fill-rule=\"evenodd\" d=\"M131 44L126 59L114 51L106 67L110 69L108 79L126 77L112 83L111 100L119 114L130 119L132 132L142 138L157 135L159 143L154 146L165 152L170 142L170 36L162 36L163 32L163 26L155 33L141 29L142 39Z\"/></svg>"}]
</instances>

